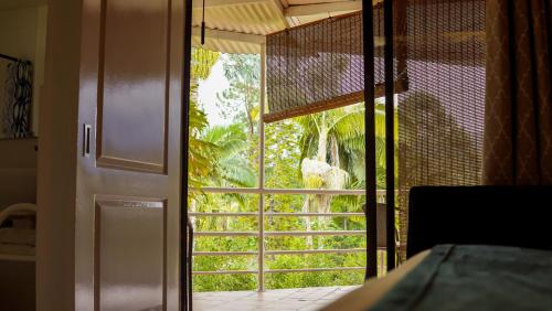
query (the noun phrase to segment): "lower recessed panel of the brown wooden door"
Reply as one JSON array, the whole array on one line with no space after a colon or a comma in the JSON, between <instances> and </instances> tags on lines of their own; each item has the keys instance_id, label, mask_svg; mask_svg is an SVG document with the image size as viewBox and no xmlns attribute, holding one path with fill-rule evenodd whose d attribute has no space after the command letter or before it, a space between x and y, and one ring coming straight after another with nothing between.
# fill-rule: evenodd
<instances>
[{"instance_id":1,"label":"lower recessed panel of the brown wooden door","mask_svg":"<svg viewBox=\"0 0 552 311\"><path fill-rule=\"evenodd\" d=\"M149 305L146 309L164 305L164 202L127 199L97 202L97 310L142 310L144 305ZM129 293L127 289L134 292Z\"/></svg>"}]
</instances>

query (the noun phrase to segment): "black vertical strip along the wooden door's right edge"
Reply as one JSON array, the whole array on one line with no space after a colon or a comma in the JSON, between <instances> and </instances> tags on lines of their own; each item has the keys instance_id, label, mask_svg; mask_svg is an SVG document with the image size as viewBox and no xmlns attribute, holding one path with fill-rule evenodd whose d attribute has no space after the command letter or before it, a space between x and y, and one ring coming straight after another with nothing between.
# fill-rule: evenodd
<instances>
[{"instance_id":1,"label":"black vertical strip along the wooden door's right edge","mask_svg":"<svg viewBox=\"0 0 552 311\"><path fill-rule=\"evenodd\" d=\"M190 72L192 56L192 0L184 2L184 37L183 37L183 74L182 74L182 107L180 118L182 124L180 136L180 310L189 310L192 298L188 296L187 251L188 251L188 138L190 136ZM191 256L191 255L190 255ZM191 310L190 310L191 311Z\"/></svg>"}]
</instances>

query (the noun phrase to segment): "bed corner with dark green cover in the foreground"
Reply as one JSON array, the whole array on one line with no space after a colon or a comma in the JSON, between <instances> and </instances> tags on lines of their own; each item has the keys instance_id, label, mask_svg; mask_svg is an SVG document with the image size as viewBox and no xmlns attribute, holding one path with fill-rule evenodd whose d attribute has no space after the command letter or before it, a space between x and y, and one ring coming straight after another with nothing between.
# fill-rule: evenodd
<instances>
[{"instance_id":1,"label":"bed corner with dark green cover in the foreground","mask_svg":"<svg viewBox=\"0 0 552 311\"><path fill-rule=\"evenodd\" d=\"M438 245L323 311L551 309L552 251Z\"/></svg>"}]
</instances>

